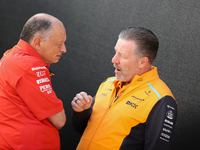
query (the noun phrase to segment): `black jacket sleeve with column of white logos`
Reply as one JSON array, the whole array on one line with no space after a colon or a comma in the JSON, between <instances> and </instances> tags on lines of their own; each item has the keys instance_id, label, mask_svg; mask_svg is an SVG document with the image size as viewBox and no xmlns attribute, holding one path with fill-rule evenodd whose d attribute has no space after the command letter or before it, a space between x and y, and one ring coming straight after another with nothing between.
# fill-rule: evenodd
<instances>
[{"instance_id":1,"label":"black jacket sleeve with column of white logos","mask_svg":"<svg viewBox=\"0 0 200 150\"><path fill-rule=\"evenodd\" d=\"M144 150L171 149L177 111L177 103L171 96L156 103L147 118Z\"/></svg>"}]
</instances>

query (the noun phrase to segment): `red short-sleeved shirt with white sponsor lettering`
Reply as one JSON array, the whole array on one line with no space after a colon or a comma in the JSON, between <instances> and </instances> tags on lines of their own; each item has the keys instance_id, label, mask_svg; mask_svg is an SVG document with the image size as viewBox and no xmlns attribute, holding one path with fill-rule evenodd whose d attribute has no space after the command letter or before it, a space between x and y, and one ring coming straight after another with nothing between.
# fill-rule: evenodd
<instances>
[{"instance_id":1,"label":"red short-sleeved shirt with white sponsor lettering","mask_svg":"<svg viewBox=\"0 0 200 150\"><path fill-rule=\"evenodd\" d=\"M0 60L0 149L60 149L59 132L46 118L62 110L48 66L20 40Z\"/></svg>"}]
</instances>

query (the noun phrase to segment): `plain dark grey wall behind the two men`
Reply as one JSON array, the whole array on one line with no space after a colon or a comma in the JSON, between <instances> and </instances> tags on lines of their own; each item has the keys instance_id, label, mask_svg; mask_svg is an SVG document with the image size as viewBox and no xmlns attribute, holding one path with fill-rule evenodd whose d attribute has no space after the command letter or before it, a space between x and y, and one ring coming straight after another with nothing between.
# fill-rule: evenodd
<instances>
[{"instance_id":1,"label":"plain dark grey wall behind the two men","mask_svg":"<svg viewBox=\"0 0 200 150\"><path fill-rule=\"evenodd\" d=\"M75 150L80 139L72 127L71 100L81 91L94 96L100 83L114 76L111 59L118 34L138 26L157 35L160 48L153 65L179 104L173 150L199 149L199 0L1 0L0 57L40 12L60 19L67 32L67 53L50 67L67 115L60 130L62 150Z\"/></svg>"}]
</instances>

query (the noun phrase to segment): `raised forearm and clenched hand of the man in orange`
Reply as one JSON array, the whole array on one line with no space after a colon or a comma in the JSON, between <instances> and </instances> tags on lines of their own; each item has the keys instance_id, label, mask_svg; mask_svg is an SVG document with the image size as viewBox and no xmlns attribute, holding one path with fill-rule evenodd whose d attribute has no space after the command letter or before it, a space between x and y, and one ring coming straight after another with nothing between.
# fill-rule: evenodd
<instances>
[{"instance_id":1,"label":"raised forearm and clenched hand of the man in orange","mask_svg":"<svg viewBox=\"0 0 200 150\"><path fill-rule=\"evenodd\" d=\"M78 101L76 101L77 98L79 99ZM85 92L77 94L71 102L73 108L73 126L80 134L85 130L92 113L92 102L92 97Z\"/></svg>"}]
</instances>

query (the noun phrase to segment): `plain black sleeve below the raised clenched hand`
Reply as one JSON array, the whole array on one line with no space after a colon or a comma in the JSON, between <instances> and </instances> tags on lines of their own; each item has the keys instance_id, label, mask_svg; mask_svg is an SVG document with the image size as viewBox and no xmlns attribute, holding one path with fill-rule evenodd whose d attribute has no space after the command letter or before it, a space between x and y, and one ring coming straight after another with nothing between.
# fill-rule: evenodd
<instances>
[{"instance_id":1,"label":"plain black sleeve below the raised clenched hand","mask_svg":"<svg viewBox=\"0 0 200 150\"><path fill-rule=\"evenodd\" d=\"M93 98L92 105L89 109L86 109L82 112L73 111L73 114L72 114L73 127L80 134L83 134L87 126L88 120L90 119L94 101L95 101L95 97Z\"/></svg>"}]
</instances>

